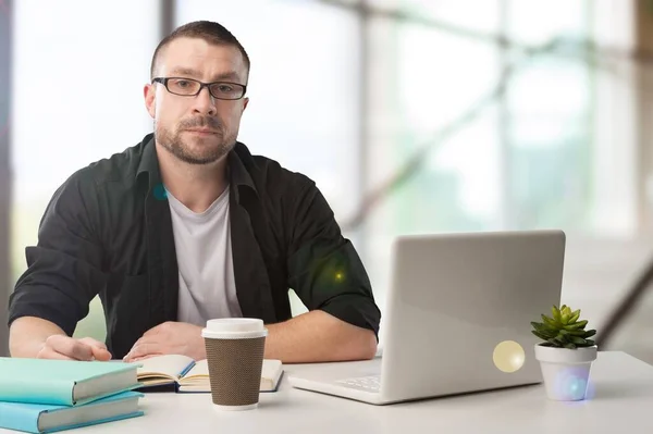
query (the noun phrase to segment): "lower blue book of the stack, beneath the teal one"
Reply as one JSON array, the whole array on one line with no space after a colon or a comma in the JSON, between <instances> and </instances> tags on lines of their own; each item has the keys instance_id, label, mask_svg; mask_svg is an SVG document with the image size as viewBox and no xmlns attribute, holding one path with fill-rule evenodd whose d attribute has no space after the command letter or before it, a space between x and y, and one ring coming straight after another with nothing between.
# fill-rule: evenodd
<instances>
[{"instance_id":1,"label":"lower blue book of the stack, beneath the teal one","mask_svg":"<svg viewBox=\"0 0 653 434\"><path fill-rule=\"evenodd\" d=\"M77 407L0 402L0 427L27 433L53 433L81 426L136 418L143 394L123 392Z\"/></svg>"}]
</instances>

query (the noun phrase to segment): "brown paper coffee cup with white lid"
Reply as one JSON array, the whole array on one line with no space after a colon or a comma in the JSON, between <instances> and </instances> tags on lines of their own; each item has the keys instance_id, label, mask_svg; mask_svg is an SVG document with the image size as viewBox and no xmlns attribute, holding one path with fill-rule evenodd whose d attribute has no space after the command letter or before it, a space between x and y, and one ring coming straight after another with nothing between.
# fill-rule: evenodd
<instances>
[{"instance_id":1,"label":"brown paper coffee cup with white lid","mask_svg":"<svg viewBox=\"0 0 653 434\"><path fill-rule=\"evenodd\" d=\"M213 405L222 410L257 408L268 336L263 321L209 320L201 336L207 349Z\"/></svg>"}]
</instances>

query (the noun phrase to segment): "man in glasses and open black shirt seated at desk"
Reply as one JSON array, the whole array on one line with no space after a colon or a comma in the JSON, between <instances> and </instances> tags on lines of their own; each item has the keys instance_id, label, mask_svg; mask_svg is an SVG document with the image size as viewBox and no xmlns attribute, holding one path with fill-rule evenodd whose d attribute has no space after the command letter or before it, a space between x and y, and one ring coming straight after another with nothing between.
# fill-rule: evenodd
<instances>
[{"instance_id":1,"label":"man in glasses and open black shirt seated at desk","mask_svg":"<svg viewBox=\"0 0 653 434\"><path fill-rule=\"evenodd\" d=\"M269 330L267 358L373 357L380 311L323 196L236 140L248 74L217 23L161 41L144 89L155 133L53 195L10 299L12 356L202 359L207 320L250 317ZM288 288L309 312L291 318ZM71 337L97 294L107 346Z\"/></svg>"}]
</instances>

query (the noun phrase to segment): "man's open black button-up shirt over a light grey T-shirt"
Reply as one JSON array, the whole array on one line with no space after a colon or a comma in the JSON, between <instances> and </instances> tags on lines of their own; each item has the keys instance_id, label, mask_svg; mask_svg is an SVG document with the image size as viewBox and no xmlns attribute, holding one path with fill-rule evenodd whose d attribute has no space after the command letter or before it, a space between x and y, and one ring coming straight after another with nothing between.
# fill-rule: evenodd
<instances>
[{"instance_id":1,"label":"man's open black button-up shirt over a light grey T-shirt","mask_svg":"<svg viewBox=\"0 0 653 434\"><path fill-rule=\"evenodd\" d=\"M234 277L244 317L291 319L288 288L373 331L381 313L365 268L308 177L237 142L227 157ZM122 358L149 328L176 321L178 270L153 135L59 187L10 298L9 323L38 317L72 335L99 294L107 345Z\"/></svg>"}]
</instances>

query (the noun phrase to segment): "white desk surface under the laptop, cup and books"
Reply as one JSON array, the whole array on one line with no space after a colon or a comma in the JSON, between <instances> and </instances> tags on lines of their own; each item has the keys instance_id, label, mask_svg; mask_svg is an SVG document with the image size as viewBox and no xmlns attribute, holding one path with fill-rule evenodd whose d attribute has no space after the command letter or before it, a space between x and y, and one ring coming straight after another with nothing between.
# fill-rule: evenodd
<instances>
[{"instance_id":1,"label":"white desk surface under the laptop, cup and books","mask_svg":"<svg viewBox=\"0 0 653 434\"><path fill-rule=\"evenodd\" d=\"M315 369L320 367L286 365L286 373ZM148 394L140 400L144 417L74 432L653 432L652 365L624 352L600 352L591 383L593 397L578 402L551 401L543 385L534 385L377 407L295 389L282 380L278 393L261 394L256 410L217 411L207 394Z\"/></svg>"}]
</instances>

